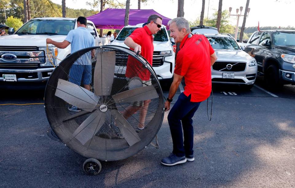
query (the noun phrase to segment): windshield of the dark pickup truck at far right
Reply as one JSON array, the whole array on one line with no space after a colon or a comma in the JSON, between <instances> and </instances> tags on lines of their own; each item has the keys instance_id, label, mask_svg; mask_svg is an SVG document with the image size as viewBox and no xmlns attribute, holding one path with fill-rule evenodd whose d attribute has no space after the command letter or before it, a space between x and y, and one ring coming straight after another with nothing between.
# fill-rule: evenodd
<instances>
[{"instance_id":1,"label":"windshield of the dark pickup truck at far right","mask_svg":"<svg viewBox=\"0 0 295 188\"><path fill-rule=\"evenodd\" d=\"M275 32L274 44L277 46L295 46L295 31L294 32Z\"/></svg>"}]
</instances>

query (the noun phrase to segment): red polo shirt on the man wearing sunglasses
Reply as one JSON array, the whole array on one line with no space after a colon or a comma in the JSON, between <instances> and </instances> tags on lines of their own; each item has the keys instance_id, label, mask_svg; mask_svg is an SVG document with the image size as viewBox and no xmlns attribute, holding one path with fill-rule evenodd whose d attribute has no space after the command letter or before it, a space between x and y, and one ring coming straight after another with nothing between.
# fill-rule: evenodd
<instances>
[{"instance_id":1,"label":"red polo shirt on the man wearing sunglasses","mask_svg":"<svg viewBox=\"0 0 295 188\"><path fill-rule=\"evenodd\" d=\"M148 26L145 25L143 28L135 29L131 35L129 35L129 37L132 38L135 43L141 46L140 55L143 56L148 61L148 63L150 63L150 65L152 65L154 45L153 36L150 29L148 29ZM134 51L134 49L130 49ZM128 57L125 76L127 78L138 76L140 79L147 81L150 80L151 73L137 60L132 57Z\"/></svg>"}]
</instances>

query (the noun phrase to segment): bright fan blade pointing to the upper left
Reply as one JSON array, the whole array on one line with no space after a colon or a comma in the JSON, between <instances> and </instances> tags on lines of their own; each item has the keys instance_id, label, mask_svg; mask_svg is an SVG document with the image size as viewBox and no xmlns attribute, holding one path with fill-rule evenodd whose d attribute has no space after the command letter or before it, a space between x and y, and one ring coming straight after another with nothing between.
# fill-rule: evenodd
<instances>
[{"instance_id":1,"label":"bright fan blade pointing to the upper left","mask_svg":"<svg viewBox=\"0 0 295 188\"><path fill-rule=\"evenodd\" d=\"M96 108L99 100L91 91L63 79L58 79L55 96L89 112Z\"/></svg>"}]
</instances>

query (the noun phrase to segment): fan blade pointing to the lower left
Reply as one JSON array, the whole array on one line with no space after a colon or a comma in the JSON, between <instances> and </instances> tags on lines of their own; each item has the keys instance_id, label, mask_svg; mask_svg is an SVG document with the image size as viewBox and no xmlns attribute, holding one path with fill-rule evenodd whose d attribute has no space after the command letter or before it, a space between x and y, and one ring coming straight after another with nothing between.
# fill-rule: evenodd
<instances>
[{"instance_id":1,"label":"fan blade pointing to the lower left","mask_svg":"<svg viewBox=\"0 0 295 188\"><path fill-rule=\"evenodd\" d=\"M75 130L73 137L76 137L81 144L85 145L85 143L101 128L104 124L104 120L105 114L96 110Z\"/></svg>"}]
</instances>

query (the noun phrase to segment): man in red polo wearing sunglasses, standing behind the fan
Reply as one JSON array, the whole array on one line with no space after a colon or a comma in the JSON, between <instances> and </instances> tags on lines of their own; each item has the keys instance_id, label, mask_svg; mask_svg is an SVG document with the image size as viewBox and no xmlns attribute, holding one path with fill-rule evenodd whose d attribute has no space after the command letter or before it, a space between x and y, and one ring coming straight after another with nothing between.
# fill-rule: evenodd
<instances>
[{"instance_id":1,"label":"man in red polo wearing sunglasses, standing behind the fan","mask_svg":"<svg viewBox=\"0 0 295 188\"><path fill-rule=\"evenodd\" d=\"M148 17L147 25L142 28L135 29L131 35L125 39L124 44L126 44L135 53L139 52L139 54L141 54L148 61L148 63L152 65L154 52L153 35L157 34L158 31L161 30L161 26L162 18L153 14ZM149 70L143 68L142 64L135 61L132 57L128 57L125 76L129 79L129 89L132 89L132 86L136 87L136 84L131 84L132 82L142 82L140 83L141 86L151 84L151 74ZM123 113L123 116L127 119L140 109L140 120L137 129L142 130L144 129L144 120L149 103L150 100L146 100L143 104L134 104L133 107L128 108ZM143 108L139 108L141 106L143 106Z\"/></svg>"}]
</instances>

